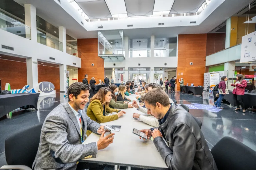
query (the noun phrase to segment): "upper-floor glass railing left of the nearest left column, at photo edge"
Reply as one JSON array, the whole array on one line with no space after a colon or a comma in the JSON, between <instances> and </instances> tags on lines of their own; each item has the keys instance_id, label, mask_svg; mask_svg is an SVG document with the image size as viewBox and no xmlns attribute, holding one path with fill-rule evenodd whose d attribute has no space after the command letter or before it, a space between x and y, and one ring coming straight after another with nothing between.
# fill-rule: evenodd
<instances>
[{"instance_id":1,"label":"upper-floor glass railing left of the nearest left column, at photo edge","mask_svg":"<svg viewBox=\"0 0 256 170\"><path fill-rule=\"evenodd\" d=\"M0 12L0 29L30 40L30 27Z\"/></svg>"}]
</instances>

